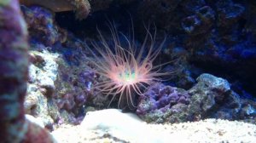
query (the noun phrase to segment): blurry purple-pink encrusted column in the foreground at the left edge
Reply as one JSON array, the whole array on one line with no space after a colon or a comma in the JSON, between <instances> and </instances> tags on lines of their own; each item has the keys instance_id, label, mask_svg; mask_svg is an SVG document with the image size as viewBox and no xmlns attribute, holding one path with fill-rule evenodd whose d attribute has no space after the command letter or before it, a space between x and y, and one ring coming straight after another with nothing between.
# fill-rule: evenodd
<instances>
[{"instance_id":1,"label":"blurry purple-pink encrusted column in the foreground at the left edge","mask_svg":"<svg viewBox=\"0 0 256 143\"><path fill-rule=\"evenodd\" d=\"M1 142L54 142L46 130L26 121L24 117L28 44L26 24L21 17L18 1L0 1L0 17Z\"/></svg>"}]
</instances>

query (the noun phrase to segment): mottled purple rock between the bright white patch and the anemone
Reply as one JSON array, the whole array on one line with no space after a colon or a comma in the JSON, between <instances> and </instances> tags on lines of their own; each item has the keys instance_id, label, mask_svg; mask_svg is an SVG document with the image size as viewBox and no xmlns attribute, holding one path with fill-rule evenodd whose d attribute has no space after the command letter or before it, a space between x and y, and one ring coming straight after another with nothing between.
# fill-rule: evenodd
<instances>
[{"instance_id":1,"label":"mottled purple rock between the bright white patch and the anemone","mask_svg":"<svg viewBox=\"0 0 256 143\"><path fill-rule=\"evenodd\" d=\"M70 43L69 43L70 44ZM55 82L54 100L59 109L73 112L77 117L84 116L84 106L90 105L93 97L93 84L96 73L91 71L84 56L79 56L79 50L67 49L58 60L58 77ZM66 58L65 58L66 57ZM79 63L77 63L79 61Z\"/></svg>"}]
</instances>

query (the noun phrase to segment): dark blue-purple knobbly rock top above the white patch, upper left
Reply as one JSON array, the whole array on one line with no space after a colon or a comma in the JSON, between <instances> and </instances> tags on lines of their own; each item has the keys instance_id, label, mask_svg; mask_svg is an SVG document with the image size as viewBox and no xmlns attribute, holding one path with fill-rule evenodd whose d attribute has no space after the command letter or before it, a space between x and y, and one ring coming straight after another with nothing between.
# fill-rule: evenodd
<instances>
[{"instance_id":1,"label":"dark blue-purple knobbly rock top above the white patch, upper left","mask_svg":"<svg viewBox=\"0 0 256 143\"><path fill-rule=\"evenodd\" d=\"M67 33L55 25L55 14L41 7L27 8L21 6L26 20L31 41L44 43L51 46L55 43L63 43Z\"/></svg>"}]
</instances>

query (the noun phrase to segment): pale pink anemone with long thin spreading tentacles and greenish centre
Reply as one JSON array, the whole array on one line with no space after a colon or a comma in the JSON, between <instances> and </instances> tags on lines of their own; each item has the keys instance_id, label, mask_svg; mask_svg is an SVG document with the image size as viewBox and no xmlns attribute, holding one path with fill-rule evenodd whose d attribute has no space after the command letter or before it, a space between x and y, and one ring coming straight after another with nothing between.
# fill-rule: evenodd
<instances>
[{"instance_id":1,"label":"pale pink anemone with long thin spreading tentacles and greenish centre","mask_svg":"<svg viewBox=\"0 0 256 143\"><path fill-rule=\"evenodd\" d=\"M132 109L136 107L134 103L136 95L143 95L143 90L149 85L160 83L162 81L161 76L170 74L170 72L160 72L160 67L170 62L153 65L153 61L160 54L166 38L155 49L156 31L154 31L154 35L151 35L146 29L147 34L140 47L137 47L134 42L134 34L132 34L132 40L121 34L127 43L123 47L124 44L120 43L116 28L110 25L109 29L113 44L109 44L106 38L102 36L102 32L99 31L100 43L92 43L92 47L96 49L98 54L90 49L95 58L92 63L96 66L96 73L106 78L105 81L97 83L95 89L99 89L107 96L113 95L109 104L118 95L119 108L128 106ZM148 52L145 54L146 49Z\"/></svg>"}]
</instances>

